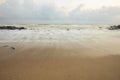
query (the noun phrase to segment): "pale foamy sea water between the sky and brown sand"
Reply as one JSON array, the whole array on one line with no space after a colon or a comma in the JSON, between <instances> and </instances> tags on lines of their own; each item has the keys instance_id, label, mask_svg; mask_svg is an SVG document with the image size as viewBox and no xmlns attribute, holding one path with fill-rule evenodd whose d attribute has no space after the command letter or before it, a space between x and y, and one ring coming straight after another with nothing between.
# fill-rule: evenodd
<instances>
[{"instance_id":1,"label":"pale foamy sea water between the sky and brown sand","mask_svg":"<svg viewBox=\"0 0 120 80\"><path fill-rule=\"evenodd\" d=\"M27 30L0 30L0 42L83 42L105 40L119 31L107 29L110 25L16 25Z\"/></svg>"}]
</instances>

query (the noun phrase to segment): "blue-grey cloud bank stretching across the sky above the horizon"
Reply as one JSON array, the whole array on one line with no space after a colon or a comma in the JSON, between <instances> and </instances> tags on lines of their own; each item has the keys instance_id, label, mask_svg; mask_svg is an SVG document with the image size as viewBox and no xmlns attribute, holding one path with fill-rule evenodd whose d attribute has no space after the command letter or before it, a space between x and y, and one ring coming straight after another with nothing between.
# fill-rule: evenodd
<instances>
[{"instance_id":1,"label":"blue-grey cloud bank stretching across the sky above the horizon","mask_svg":"<svg viewBox=\"0 0 120 80\"><path fill-rule=\"evenodd\" d=\"M119 23L119 7L82 10L79 5L66 15L55 4L36 5L33 0L7 0L0 4L1 23Z\"/></svg>"}]
</instances>

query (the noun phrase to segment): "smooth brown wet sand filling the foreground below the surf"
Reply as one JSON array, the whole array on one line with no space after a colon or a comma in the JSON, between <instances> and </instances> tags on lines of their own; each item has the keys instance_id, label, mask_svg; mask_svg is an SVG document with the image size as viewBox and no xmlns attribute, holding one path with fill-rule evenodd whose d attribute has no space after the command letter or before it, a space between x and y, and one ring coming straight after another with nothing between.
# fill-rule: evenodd
<instances>
[{"instance_id":1,"label":"smooth brown wet sand filling the foreground below the surf","mask_svg":"<svg viewBox=\"0 0 120 80\"><path fill-rule=\"evenodd\" d=\"M120 80L120 55L103 51L113 43L1 43L0 80Z\"/></svg>"}]
</instances>

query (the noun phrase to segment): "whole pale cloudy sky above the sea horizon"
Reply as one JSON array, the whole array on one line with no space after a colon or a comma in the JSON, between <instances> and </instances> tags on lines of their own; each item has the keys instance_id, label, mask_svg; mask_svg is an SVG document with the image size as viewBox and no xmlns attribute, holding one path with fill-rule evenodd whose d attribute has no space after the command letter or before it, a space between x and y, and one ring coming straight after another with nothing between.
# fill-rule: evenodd
<instances>
[{"instance_id":1,"label":"whole pale cloudy sky above the sea horizon","mask_svg":"<svg viewBox=\"0 0 120 80\"><path fill-rule=\"evenodd\" d=\"M120 0L0 0L0 24L119 24Z\"/></svg>"}]
</instances>

